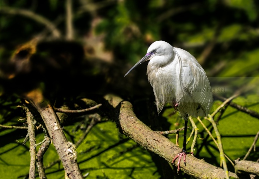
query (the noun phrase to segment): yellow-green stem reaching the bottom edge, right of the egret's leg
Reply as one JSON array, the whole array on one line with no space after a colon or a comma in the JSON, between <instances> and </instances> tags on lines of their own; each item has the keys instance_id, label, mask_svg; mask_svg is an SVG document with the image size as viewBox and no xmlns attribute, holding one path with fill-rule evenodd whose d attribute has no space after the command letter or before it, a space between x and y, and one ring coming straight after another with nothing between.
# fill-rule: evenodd
<instances>
[{"instance_id":1,"label":"yellow-green stem reaching the bottom edge, right of the egret's leg","mask_svg":"<svg viewBox=\"0 0 259 179\"><path fill-rule=\"evenodd\" d=\"M235 95L233 95L233 98L235 97ZM224 106L224 105L223 105ZM214 114L215 115L215 114ZM223 146L221 143L221 137L220 137L220 133L217 127L216 122L213 120L213 117L211 115L209 115L209 117L205 117L205 119L207 119L208 121L210 121L213 125L214 131L216 133L217 139L218 139L218 145L219 145L219 151L220 151L220 159L223 163L223 169L225 171L226 174L226 178L229 179L229 171L228 171L228 167L227 167L227 163L225 160L225 156L224 156L224 151L223 151Z\"/></svg>"}]
</instances>

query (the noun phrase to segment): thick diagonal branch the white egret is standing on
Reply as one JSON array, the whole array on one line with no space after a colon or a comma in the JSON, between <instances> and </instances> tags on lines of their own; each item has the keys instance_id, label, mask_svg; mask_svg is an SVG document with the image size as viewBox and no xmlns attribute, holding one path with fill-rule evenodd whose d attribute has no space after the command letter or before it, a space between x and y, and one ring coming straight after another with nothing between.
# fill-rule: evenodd
<instances>
[{"instance_id":1,"label":"thick diagonal branch the white egret is standing on","mask_svg":"<svg viewBox=\"0 0 259 179\"><path fill-rule=\"evenodd\" d=\"M128 101L123 101L120 97L114 95L106 95L105 99L115 108L115 113L118 114L116 122L122 132L133 139L136 143L145 149L159 155L168 162L172 162L181 149L172 143L166 137L152 131L149 127L143 124L135 116L132 105ZM178 159L177 159L178 160ZM177 162L175 162L176 166ZM199 160L191 155L186 158L186 166L180 165L181 170L186 174L199 179L224 179L225 172L223 169L215 167ZM205 172L206 171L206 172ZM230 173L230 176L237 179L236 174Z\"/></svg>"}]
</instances>

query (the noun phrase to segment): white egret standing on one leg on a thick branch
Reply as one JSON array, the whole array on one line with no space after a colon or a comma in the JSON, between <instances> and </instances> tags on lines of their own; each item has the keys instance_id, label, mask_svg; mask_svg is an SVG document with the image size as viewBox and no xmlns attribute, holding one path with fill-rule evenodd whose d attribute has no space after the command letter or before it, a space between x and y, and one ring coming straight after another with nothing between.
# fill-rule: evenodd
<instances>
[{"instance_id":1,"label":"white egret standing on one leg on a thick branch","mask_svg":"<svg viewBox=\"0 0 259 179\"><path fill-rule=\"evenodd\" d=\"M179 157L179 171L181 158L185 164L186 154L193 155L186 152L188 116L202 117L209 113L213 101L210 83L203 68L189 52L174 48L165 41L152 43L146 55L129 72L147 60L147 77L153 87L157 112L168 102L185 120L183 149L173 159L174 162Z\"/></svg>"}]
</instances>

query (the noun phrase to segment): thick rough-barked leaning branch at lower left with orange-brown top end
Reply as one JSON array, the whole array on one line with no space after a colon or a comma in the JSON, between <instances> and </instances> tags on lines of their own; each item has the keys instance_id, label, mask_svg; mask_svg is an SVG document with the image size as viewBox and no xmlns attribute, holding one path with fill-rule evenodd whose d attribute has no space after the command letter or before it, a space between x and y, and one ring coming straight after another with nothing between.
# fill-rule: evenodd
<instances>
[{"instance_id":1,"label":"thick rough-barked leaning branch at lower left with orange-brown top end","mask_svg":"<svg viewBox=\"0 0 259 179\"><path fill-rule=\"evenodd\" d=\"M63 164L65 175L69 179L83 179L76 158L76 147L71 142L68 142L59 120L53 107L44 99L42 92L33 90L25 94L25 98L38 110L40 113L53 145L55 146L59 158Z\"/></svg>"}]
</instances>

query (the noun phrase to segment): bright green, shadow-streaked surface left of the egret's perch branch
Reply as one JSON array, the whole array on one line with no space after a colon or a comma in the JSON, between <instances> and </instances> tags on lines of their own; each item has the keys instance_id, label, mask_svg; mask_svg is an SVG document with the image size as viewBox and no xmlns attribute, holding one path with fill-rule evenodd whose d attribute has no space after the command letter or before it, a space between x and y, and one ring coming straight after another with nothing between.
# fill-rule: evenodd
<instances>
[{"instance_id":1,"label":"bright green, shadow-streaked surface left of the egret's perch branch","mask_svg":"<svg viewBox=\"0 0 259 179\"><path fill-rule=\"evenodd\" d=\"M9 123L9 125L11 124ZM83 134L82 130L76 130L78 125L82 125L82 122L64 127L66 137L69 140L73 139L72 142L77 142ZM107 179L159 178L149 152L120 134L118 130L114 130L115 128L115 123L109 121L96 125L77 148L77 161L83 175L89 173L89 179L99 177ZM0 132L0 136L12 135L14 131L15 129L3 130ZM29 142L27 141L25 146L21 145L23 137L0 147L0 174L5 174L5 179L16 179L28 174ZM37 143L41 142L43 138L42 133L38 134L36 136ZM47 167L58 159L56 150L51 144L44 155L44 166ZM49 179L64 178L63 167L60 163L45 171Z\"/></svg>"}]
</instances>

